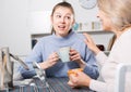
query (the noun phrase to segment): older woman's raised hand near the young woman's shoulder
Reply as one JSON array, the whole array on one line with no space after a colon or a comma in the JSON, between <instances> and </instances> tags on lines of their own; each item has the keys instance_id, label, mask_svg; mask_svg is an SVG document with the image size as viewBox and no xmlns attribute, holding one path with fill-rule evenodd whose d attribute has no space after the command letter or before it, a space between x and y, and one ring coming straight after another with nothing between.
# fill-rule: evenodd
<instances>
[{"instance_id":1,"label":"older woman's raised hand near the young woman's shoulder","mask_svg":"<svg viewBox=\"0 0 131 92\"><path fill-rule=\"evenodd\" d=\"M100 50L94 43L92 37L88 34L83 34L85 36L84 42L87 44L88 49L92 50L95 54L97 54Z\"/></svg>"}]
</instances>

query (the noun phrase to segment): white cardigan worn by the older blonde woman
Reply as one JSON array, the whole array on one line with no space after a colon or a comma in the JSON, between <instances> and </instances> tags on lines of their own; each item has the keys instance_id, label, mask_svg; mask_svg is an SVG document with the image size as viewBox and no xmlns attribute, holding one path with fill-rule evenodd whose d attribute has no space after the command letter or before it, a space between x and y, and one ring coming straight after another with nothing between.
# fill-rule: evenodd
<instances>
[{"instance_id":1,"label":"white cardigan worn by the older blonde woman","mask_svg":"<svg viewBox=\"0 0 131 92\"><path fill-rule=\"evenodd\" d=\"M104 52L96 55L96 60L102 65L103 81L91 80L90 89L97 92L115 91L115 75L119 63L131 63L131 29L124 31L115 42L109 56ZM126 91L131 92L131 73L126 76Z\"/></svg>"}]
</instances>

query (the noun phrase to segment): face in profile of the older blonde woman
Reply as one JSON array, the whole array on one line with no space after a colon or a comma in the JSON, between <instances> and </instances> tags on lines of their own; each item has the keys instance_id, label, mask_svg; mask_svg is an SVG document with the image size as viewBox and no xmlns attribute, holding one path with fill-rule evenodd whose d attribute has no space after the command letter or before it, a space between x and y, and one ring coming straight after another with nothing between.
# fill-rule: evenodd
<instances>
[{"instance_id":1,"label":"face in profile of the older blonde woman","mask_svg":"<svg viewBox=\"0 0 131 92\"><path fill-rule=\"evenodd\" d=\"M99 10L97 17L102 22L103 30L111 30L111 19L103 11Z\"/></svg>"}]
</instances>

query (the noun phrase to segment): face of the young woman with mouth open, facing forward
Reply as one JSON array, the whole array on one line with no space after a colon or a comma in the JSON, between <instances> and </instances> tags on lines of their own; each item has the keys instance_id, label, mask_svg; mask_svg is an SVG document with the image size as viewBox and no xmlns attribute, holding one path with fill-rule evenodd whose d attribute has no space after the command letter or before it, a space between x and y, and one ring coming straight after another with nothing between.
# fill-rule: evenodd
<instances>
[{"instance_id":1,"label":"face of the young woman with mouth open, facing forward","mask_svg":"<svg viewBox=\"0 0 131 92\"><path fill-rule=\"evenodd\" d=\"M56 35L64 37L74 24L74 16L69 8L59 6L51 16L51 23Z\"/></svg>"}]
</instances>

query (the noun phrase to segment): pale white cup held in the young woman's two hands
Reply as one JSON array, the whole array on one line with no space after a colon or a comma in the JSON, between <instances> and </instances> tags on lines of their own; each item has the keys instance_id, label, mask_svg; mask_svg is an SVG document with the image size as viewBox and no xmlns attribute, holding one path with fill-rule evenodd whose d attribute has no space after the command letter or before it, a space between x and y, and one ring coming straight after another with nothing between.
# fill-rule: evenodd
<instances>
[{"instance_id":1,"label":"pale white cup held in the young woman's two hands","mask_svg":"<svg viewBox=\"0 0 131 92\"><path fill-rule=\"evenodd\" d=\"M59 57L60 60L64 63L64 62L70 62L70 47L63 47L60 48L58 51Z\"/></svg>"}]
</instances>

